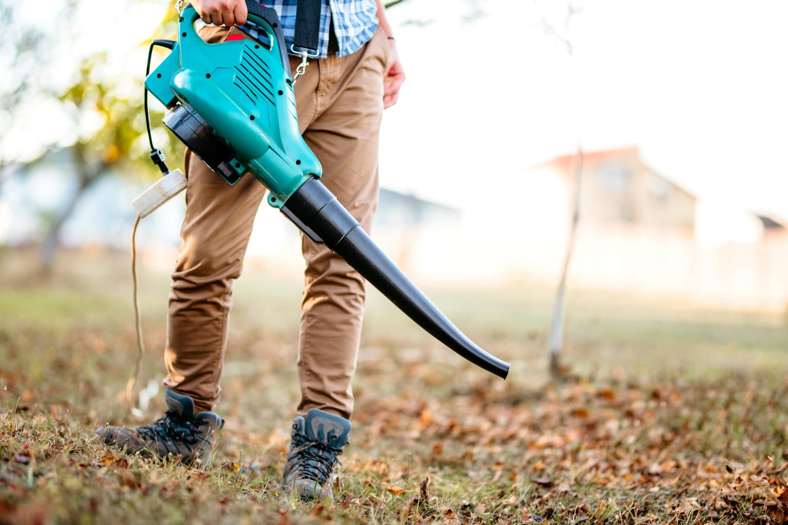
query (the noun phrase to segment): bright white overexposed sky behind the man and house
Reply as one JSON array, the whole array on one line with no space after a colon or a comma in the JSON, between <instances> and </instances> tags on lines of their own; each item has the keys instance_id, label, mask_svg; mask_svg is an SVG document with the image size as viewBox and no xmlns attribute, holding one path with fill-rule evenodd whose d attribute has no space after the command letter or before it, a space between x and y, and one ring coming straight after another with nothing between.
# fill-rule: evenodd
<instances>
[{"instance_id":1,"label":"bright white overexposed sky behind the man and house","mask_svg":"<svg viewBox=\"0 0 788 525\"><path fill-rule=\"evenodd\" d=\"M105 47L119 71L142 76L139 43L173 2L131 2L128 12L125 2L83 3L90 31L62 50L64 68L68 56ZM585 4L568 33L572 60L541 24L542 13L561 24L560 0L390 9L407 82L385 114L382 183L486 205L579 137L589 150L640 146L652 168L701 198L788 217L788 2ZM46 129L18 124L20 147Z\"/></svg>"}]
</instances>

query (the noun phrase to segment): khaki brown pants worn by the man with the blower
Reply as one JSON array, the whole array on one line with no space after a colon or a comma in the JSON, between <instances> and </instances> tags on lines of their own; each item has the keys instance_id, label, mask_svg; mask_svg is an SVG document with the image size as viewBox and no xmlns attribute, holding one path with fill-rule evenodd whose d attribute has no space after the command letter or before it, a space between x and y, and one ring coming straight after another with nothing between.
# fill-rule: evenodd
<instances>
[{"instance_id":1,"label":"khaki brown pants worn by the man with the blower","mask_svg":"<svg viewBox=\"0 0 788 525\"><path fill-rule=\"evenodd\" d=\"M201 36L217 43L233 33L248 38L237 28L203 28ZM322 163L322 180L366 231L377 206L377 143L387 60L388 42L378 28L354 54L310 61L295 88L300 130ZM298 63L291 57L293 72ZM251 174L229 186L188 151L185 164L186 216L169 294L164 383L191 396L196 410L210 411L221 395L232 283L240 276L265 188ZM302 251L307 269L298 412L305 415L317 408L349 418L364 281L335 253L303 235Z\"/></svg>"}]
</instances>

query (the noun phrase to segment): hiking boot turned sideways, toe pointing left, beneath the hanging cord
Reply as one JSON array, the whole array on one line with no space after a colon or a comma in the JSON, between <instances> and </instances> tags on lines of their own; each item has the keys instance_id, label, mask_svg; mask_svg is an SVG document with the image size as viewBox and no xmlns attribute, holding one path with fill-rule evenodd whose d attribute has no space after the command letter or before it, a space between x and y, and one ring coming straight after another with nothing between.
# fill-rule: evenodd
<instances>
[{"instance_id":1,"label":"hiking boot turned sideways, toe pointing left, beneath the hanging cord","mask_svg":"<svg viewBox=\"0 0 788 525\"><path fill-rule=\"evenodd\" d=\"M95 432L107 445L139 453L143 457L180 457L181 461L202 459L213 446L216 431L225 422L214 412L199 412L183 394L167 389L165 416L144 427L103 427Z\"/></svg>"}]
</instances>

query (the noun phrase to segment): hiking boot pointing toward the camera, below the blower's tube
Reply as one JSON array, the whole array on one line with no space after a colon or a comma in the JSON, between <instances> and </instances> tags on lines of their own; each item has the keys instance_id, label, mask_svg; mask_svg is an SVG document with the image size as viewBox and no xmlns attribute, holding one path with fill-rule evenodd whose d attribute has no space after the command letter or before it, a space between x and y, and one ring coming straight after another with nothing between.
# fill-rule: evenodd
<instances>
[{"instance_id":1,"label":"hiking boot pointing toward the camera, below the blower's tube","mask_svg":"<svg viewBox=\"0 0 788 525\"><path fill-rule=\"evenodd\" d=\"M288 460L284 463L282 488L303 501L333 503L331 473L348 445L350 421L329 412L311 409L307 419L296 417L290 434Z\"/></svg>"}]
</instances>

